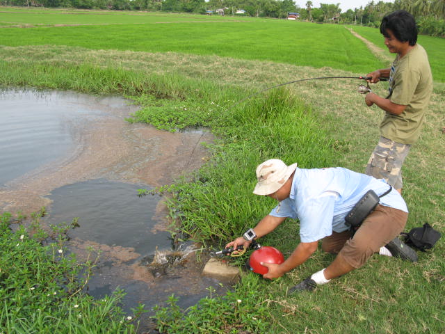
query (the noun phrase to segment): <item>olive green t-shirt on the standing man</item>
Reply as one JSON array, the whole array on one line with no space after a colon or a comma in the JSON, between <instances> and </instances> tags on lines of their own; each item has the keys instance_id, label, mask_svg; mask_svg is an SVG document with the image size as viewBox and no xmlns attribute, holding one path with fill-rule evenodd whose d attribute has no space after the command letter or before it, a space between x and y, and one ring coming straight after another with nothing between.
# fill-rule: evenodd
<instances>
[{"instance_id":1,"label":"olive green t-shirt on the standing man","mask_svg":"<svg viewBox=\"0 0 445 334\"><path fill-rule=\"evenodd\" d=\"M428 55L414 45L405 56L396 56L389 75L389 100L406 106L403 113L386 113L380 123L380 134L403 144L419 138L421 125L432 93L432 75Z\"/></svg>"}]
</instances>

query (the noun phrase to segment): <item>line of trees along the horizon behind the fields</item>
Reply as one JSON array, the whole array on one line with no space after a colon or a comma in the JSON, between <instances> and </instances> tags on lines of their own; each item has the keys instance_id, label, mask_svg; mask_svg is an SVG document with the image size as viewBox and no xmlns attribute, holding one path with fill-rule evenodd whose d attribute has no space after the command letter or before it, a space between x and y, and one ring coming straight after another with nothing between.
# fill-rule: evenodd
<instances>
[{"instance_id":1,"label":"line of trees along the horizon behind the fields","mask_svg":"<svg viewBox=\"0 0 445 334\"><path fill-rule=\"evenodd\" d=\"M305 0L302 1L304 3ZM302 6L293 0L0 0L2 6L42 6L81 9L149 10L174 13L212 15L248 15L252 17L286 18L288 13L299 13L299 20L337 24L380 25L383 16L404 9L416 17L419 31L428 35L445 36L445 0L395 0L394 3L370 1L366 6L341 13L339 3L312 1ZM220 11L223 9L224 11ZM238 10L243 10L239 13ZM218 13L216 10L219 10ZM238 13L237 13L238 12Z\"/></svg>"}]
</instances>

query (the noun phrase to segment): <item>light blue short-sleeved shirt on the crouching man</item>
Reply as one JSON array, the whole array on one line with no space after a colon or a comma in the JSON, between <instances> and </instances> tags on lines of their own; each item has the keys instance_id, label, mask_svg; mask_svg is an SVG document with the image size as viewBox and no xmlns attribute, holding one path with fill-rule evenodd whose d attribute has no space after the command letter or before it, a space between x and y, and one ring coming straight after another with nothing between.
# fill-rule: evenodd
<instances>
[{"instance_id":1,"label":"light blue short-sleeved shirt on the crouching man","mask_svg":"<svg viewBox=\"0 0 445 334\"><path fill-rule=\"evenodd\" d=\"M348 230L346 214L370 189L380 196L389 185L385 180L346 168L297 168L289 198L282 200L270 216L298 219L301 241L317 241L330 236L332 231ZM379 204L408 212L405 201L395 189L380 198Z\"/></svg>"}]
</instances>

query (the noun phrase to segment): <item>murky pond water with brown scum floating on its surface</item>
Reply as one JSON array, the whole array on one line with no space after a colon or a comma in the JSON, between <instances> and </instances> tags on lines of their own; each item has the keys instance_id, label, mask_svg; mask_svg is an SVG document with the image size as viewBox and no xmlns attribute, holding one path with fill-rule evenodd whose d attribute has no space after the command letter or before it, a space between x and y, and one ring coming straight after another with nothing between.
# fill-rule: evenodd
<instances>
[{"instance_id":1,"label":"murky pond water with brown scum floating on its surface","mask_svg":"<svg viewBox=\"0 0 445 334\"><path fill-rule=\"evenodd\" d=\"M156 254L172 253L167 212L159 196L136 194L199 168L206 154L200 143L212 137L126 122L136 109L119 97L0 90L0 210L29 214L45 206L47 224L78 217L69 247L80 260L100 254L88 285L97 298L121 287L126 310L171 294L191 305L207 287L225 288L200 276L204 262L195 260L193 245L179 250L174 265L149 266Z\"/></svg>"}]
</instances>

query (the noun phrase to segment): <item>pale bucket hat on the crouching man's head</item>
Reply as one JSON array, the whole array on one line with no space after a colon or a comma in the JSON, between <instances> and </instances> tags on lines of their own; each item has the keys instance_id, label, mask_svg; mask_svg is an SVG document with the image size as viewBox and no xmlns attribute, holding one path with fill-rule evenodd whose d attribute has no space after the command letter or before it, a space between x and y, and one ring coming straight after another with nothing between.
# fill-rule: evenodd
<instances>
[{"instance_id":1,"label":"pale bucket hat on the crouching man's head","mask_svg":"<svg viewBox=\"0 0 445 334\"><path fill-rule=\"evenodd\" d=\"M256 195L270 195L284 186L297 164L287 166L280 159L270 159L257 167L258 183L253 191Z\"/></svg>"}]
</instances>

